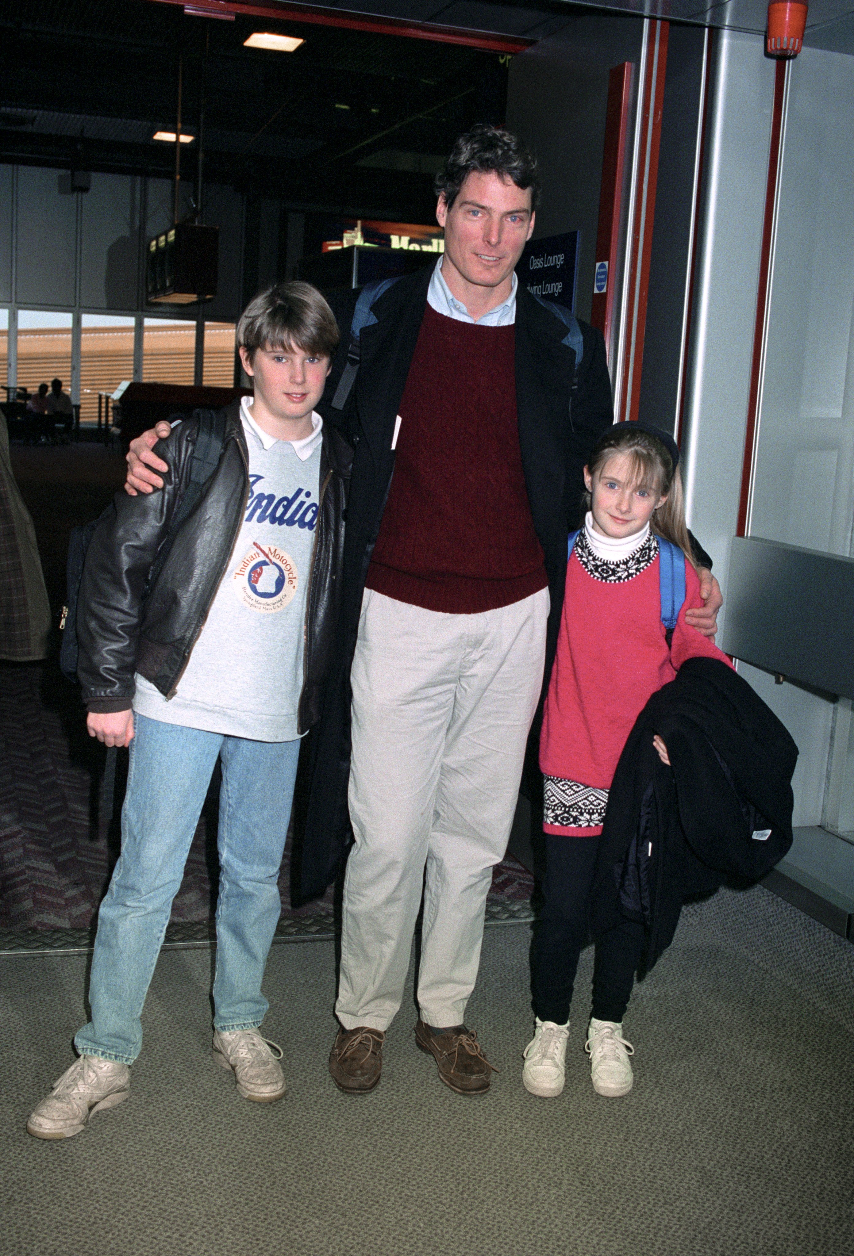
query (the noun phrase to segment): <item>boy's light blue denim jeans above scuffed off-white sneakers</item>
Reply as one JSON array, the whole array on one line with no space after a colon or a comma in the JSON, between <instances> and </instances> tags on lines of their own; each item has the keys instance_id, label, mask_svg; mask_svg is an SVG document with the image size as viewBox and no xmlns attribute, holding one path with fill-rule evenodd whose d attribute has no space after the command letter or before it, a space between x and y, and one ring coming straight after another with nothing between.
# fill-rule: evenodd
<instances>
[{"instance_id":1,"label":"boy's light blue denim jeans above scuffed off-white sneakers","mask_svg":"<svg viewBox=\"0 0 854 1256\"><path fill-rule=\"evenodd\" d=\"M133 717L122 854L98 913L89 977L92 1020L80 1054L132 1064L141 1014L211 774L222 760L220 897L214 1025L256 1029L261 978L281 903L279 867L290 821L299 741L247 741Z\"/></svg>"}]
</instances>

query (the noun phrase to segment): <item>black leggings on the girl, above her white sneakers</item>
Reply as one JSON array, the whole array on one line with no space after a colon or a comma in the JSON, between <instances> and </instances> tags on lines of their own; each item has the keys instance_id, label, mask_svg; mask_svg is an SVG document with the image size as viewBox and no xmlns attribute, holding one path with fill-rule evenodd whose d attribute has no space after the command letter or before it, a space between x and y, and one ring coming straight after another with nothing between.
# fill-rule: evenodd
<instances>
[{"instance_id":1,"label":"black leggings on the girl, above her white sneakers","mask_svg":"<svg viewBox=\"0 0 854 1256\"><path fill-rule=\"evenodd\" d=\"M546 833L545 902L534 934L531 967L534 1011L540 1020L569 1020L573 983L588 941L588 899L599 838L565 838ZM643 924L622 921L597 941L593 966L593 1015L623 1020L634 973L643 953Z\"/></svg>"}]
</instances>

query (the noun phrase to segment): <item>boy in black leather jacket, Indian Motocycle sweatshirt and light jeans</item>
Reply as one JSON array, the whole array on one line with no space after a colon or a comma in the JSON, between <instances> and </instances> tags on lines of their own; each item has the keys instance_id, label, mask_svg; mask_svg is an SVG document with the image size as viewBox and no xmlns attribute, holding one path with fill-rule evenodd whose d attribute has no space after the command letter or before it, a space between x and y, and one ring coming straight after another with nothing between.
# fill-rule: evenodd
<instances>
[{"instance_id":1,"label":"boy in black leather jacket, Indian Motocycle sweatshirt and light jeans","mask_svg":"<svg viewBox=\"0 0 854 1256\"><path fill-rule=\"evenodd\" d=\"M285 1093L281 1050L259 1034L279 919L278 875L300 737L316 718L337 614L350 451L320 401L338 344L309 284L261 293L237 324L254 398L224 412L219 465L180 525L198 420L158 452L161 494L117 495L80 587L78 676L90 736L129 746L122 854L98 916L79 1059L31 1114L69 1138L127 1098L141 1012L211 772L222 764L214 1059L246 1099ZM273 1050L271 1050L273 1048Z\"/></svg>"}]
</instances>

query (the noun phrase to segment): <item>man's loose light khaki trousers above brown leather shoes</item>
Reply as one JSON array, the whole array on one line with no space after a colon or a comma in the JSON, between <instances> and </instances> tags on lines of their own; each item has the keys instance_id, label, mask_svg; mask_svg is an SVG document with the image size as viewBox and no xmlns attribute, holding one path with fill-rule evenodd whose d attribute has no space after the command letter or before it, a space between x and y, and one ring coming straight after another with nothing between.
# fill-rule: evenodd
<instances>
[{"instance_id":1,"label":"man's loose light khaki trousers above brown leather shoes","mask_svg":"<svg viewBox=\"0 0 854 1256\"><path fill-rule=\"evenodd\" d=\"M422 888L421 1015L437 1029L463 1021L543 683L548 615L548 589L473 615L365 590L335 1006L345 1029L386 1030L401 1006Z\"/></svg>"}]
</instances>

